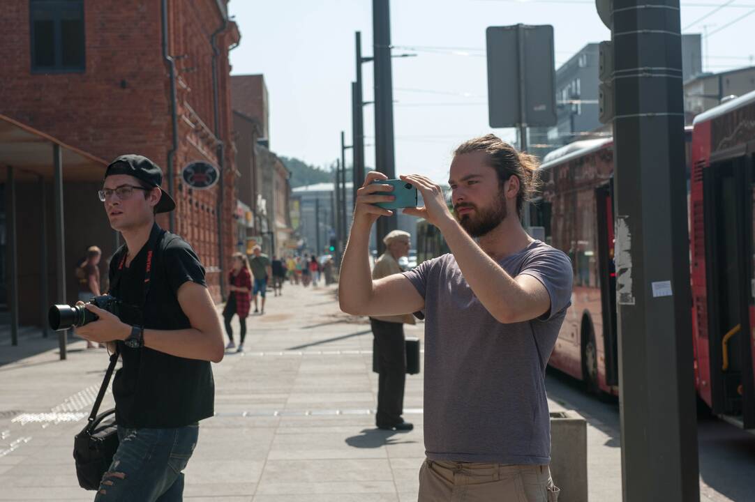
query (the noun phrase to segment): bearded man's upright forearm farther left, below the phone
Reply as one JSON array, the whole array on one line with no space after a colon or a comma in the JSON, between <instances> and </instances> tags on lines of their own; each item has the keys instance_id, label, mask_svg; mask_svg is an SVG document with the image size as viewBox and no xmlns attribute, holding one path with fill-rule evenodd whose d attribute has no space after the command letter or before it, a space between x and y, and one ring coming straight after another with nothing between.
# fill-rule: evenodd
<instances>
[{"instance_id":1,"label":"bearded man's upright forearm farther left, below the phone","mask_svg":"<svg viewBox=\"0 0 755 502\"><path fill-rule=\"evenodd\" d=\"M372 295L372 276L369 261L370 225L358 223L351 226L349 242L341 261L338 278L338 301L341 310L354 313L363 310Z\"/></svg>"}]
</instances>

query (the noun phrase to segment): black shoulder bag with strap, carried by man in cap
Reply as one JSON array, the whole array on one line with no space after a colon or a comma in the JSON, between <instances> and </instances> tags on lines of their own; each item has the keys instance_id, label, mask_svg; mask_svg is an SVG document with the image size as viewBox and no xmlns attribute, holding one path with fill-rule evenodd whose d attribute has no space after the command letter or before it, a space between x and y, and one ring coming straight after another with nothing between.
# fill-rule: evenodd
<instances>
[{"instance_id":1,"label":"black shoulder bag with strap, carried by man in cap","mask_svg":"<svg viewBox=\"0 0 755 502\"><path fill-rule=\"evenodd\" d=\"M142 294L142 309L146 303L146 295L149 292L149 279L152 275L152 257L155 245L163 231L159 226L153 226L152 233L149 235L149 247L146 255L146 271L144 273L144 287ZM112 292L120 282L123 266L126 260L126 253L123 254L118 266L118 275L110 287ZM100 392L97 394L97 400L94 401L92 411L86 427L82 432L76 434L73 439L73 459L76 464L76 477L79 479L79 485L87 490L97 490L100 488L102 476L107 472L112 464L112 457L118 451L118 424L116 423L116 408L111 408L97 414L100 405L105 397L107 386L112 377L112 371L116 368L120 350L116 343L116 352L110 356L110 365L105 372L105 378L102 380Z\"/></svg>"}]
</instances>

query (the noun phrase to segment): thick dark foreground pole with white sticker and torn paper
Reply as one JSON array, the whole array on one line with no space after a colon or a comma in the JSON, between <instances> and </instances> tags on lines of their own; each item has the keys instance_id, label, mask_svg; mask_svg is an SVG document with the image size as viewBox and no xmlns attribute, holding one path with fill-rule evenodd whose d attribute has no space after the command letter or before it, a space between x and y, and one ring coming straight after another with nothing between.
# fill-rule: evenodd
<instances>
[{"instance_id":1,"label":"thick dark foreground pole with white sticker and torn paper","mask_svg":"<svg viewBox=\"0 0 755 502\"><path fill-rule=\"evenodd\" d=\"M700 500L679 0L614 0L615 265L625 502Z\"/></svg>"}]
</instances>

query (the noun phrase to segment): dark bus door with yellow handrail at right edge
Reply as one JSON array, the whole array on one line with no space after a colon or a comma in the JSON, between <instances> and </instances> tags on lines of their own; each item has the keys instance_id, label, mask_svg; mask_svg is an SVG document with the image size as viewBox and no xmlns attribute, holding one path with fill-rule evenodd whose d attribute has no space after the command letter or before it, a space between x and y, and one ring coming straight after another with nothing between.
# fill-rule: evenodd
<instances>
[{"instance_id":1,"label":"dark bus door with yellow handrail at right edge","mask_svg":"<svg viewBox=\"0 0 755 502\"><path fill-rule=\"evenodd\" d=\"M713 412L755 428L750 319L753 276L753 165L717 162L704 176L708 342Z\"/></svg>"}]
</instances>

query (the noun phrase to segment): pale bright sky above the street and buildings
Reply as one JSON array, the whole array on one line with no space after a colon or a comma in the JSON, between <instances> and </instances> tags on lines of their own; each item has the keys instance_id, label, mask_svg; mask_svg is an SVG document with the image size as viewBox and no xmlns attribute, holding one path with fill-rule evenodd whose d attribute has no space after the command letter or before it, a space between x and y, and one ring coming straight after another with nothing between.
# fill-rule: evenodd
<instances>
[{"instance_id":1,"label":"pale bright sky above the street and buildings","mask_svg":"<svg viewBox=\"0 0 755 502\"><path fill-rule=\"evenodd\" d=\"M682 2L683 33L707 32L703 69L755 65L755 0ZM262 73L270 97L270 148L280 156L329 166L351 144L354 32L372 55L371 0L231 0L242 38L231 52L232 75ZM471 137L513 129L488 126L485 29L551 24L556 67L590 42L610 39L593 0L393 0L393 128L396 174L448 178L451 152ZM365 101L372 64L362 65ZM365 106L365 165L374 166L374 114ZM347 165L350 165L347 150Z\"/></svg>"}]
</instances>

